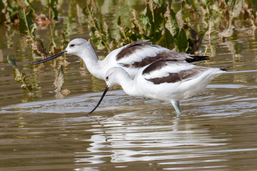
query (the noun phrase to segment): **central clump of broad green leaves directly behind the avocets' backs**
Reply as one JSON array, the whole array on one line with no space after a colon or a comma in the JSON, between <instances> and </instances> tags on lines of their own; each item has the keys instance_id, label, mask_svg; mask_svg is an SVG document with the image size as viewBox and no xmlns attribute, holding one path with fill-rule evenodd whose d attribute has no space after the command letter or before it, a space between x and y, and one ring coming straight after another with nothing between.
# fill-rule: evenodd
<instances>
[{"instance_id":1,"label":"central clump of broad green leaves directly behind the avocets' backs","mask_svg":"<svg viewBox=\"0 0 257 171\"><path fill-rule=\"evenodd\" d=\"M101 24L103 27L99 29L92 5L86 6L83 13L88 19L91 40L98 49L106 48L112 51L136 40L149 39L153 44L159 44L171 50L195 53L204 33L208 30L208 24L198 33L189 24L184 23L182 10L185 3L182 1L181 9L174 13L171 9L171 1L160 4L158 1L147 0L146 8L141 15L142 26L136 18L135 10L132 11L133 19L130 21L130 28L123 21L123 17L119 16L117 39L111 38L106 23ZM206 20L209 19L208 17L209 13Z\"/></svg>"}]
</instances>

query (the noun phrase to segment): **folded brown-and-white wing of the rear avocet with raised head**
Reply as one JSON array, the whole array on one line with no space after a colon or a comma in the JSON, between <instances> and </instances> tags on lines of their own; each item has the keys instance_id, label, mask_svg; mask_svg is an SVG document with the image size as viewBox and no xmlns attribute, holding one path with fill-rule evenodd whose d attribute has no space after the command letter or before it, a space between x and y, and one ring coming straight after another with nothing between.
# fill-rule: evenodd
<instances>
[{"instance_id":1,"label":"folded brown-and-white wing of the rear avocet with raised head","mask_svg":"<svg viewBox=\"0 0 257 171\"><path fill-rule=\"evenodd\" d=\"M116 61L125 67L141 68L160 58L180 58L186 62L210 59L209 56L195 56L174 52L158 45L150 45L149 40L138 40L125 46L116 56Z\"/></svg>"}]
</instances>

